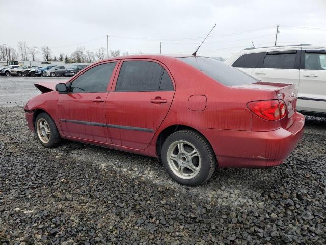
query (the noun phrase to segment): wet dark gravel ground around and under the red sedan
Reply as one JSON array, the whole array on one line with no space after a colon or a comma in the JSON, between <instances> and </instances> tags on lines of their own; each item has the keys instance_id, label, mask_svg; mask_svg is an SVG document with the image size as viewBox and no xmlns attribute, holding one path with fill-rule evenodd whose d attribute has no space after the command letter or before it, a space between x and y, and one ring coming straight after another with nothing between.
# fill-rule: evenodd
<instances>
[{"instance_id":1,"label":"wet dark gravel ground around and under the red sedan","mask_svg":"<svg viewBox=\"0 0 326 245\"><path fill-rule=\"evenodd\" d=\"M65 141L45 149L22 107L0 108L0 244L325 244L326 118L267 170L199 187L156 159Z\"/></svg>"}]
</instances>

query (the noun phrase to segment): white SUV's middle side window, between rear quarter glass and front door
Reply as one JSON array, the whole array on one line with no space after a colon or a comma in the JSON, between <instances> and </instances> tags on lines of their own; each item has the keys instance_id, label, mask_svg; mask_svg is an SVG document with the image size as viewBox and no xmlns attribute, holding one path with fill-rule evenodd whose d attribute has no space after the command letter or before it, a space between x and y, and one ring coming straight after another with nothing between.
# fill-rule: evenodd
<instances>
[{"instance_id":1,"label":"white SUV's middle side window, between rear quarter glass and front door","mask_svg":"<svg viewBox=\"0 0 326 245\"><path fill-rule=\"evenodd\" d=\"M265 56L263 68L294 69L296 52L274 53L269 52Z\"/></svg>"}]
</instances>

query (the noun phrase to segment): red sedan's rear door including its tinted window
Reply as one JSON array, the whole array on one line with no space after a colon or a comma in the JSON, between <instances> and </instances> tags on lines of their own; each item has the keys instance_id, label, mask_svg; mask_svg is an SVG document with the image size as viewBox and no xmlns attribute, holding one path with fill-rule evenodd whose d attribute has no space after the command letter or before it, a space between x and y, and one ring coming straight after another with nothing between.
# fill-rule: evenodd
<instances>
[{"instance_id":1,"label":"red sedan's rear door including its tinted window","mask_svg":"<svg viewBox=\"0 0 326 245\"><path fill-rule=\"evenodd\" d=\"M145 149L167 115L174 85L163 64L148 59L121 62L105 116L112 143Z\"/></svg>"}]
</instances>

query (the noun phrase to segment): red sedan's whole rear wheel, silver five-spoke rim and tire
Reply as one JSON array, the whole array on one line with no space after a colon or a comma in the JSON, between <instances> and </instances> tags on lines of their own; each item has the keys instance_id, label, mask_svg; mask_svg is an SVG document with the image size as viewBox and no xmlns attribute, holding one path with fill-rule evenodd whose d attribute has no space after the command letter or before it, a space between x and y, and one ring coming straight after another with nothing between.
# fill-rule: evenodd
<instances>
[{"instance_id":1,"label":"red sedan's whole rear wheel, silver five-spoke rim and tire","mask_svg":"<svg viewBox=\"0 0 326 245\"><path fill-rule=\"evenodd\" d=\"M161 155L168 174L183 185L204 183L216 168L210 144L203 135L193 130L171 134L163 144Z\"/></svg>"}]
</instances>

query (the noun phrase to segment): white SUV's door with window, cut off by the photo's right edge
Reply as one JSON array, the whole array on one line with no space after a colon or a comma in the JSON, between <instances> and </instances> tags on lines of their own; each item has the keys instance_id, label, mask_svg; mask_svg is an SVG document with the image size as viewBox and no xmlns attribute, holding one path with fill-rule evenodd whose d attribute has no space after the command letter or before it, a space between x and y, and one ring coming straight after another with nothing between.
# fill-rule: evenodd
<instances>
[{"instance_id":1,"label":"white SUV's door with window, cut off by the photo's right edge","mask_svg":"<svg viewBox=\"0 0 326 245\"><path fill-rule=\"evenodd\" d=\"M326 50L303 50L297 109L326 113Z\"/></svg>"}]
</instances>

